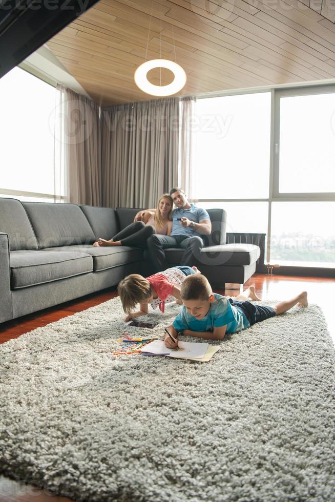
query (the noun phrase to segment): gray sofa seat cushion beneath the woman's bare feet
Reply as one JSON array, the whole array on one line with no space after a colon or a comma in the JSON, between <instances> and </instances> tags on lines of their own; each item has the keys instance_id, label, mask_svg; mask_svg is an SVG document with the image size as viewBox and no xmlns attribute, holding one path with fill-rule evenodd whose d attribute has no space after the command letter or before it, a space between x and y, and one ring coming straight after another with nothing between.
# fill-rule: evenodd
<instances>
[{"instance_id":1,"label":"gray sofa seat cushion beneath the woman's bare feet","mask_svg":"<svg viewBox=\"0 0 335 502\"><path fill-rule=\"evenodd\" d=\"M91 245L75 245L65 247L51 247L43 249L43 252L66 251L86 253L93 258L93 270L106 270L120 265L126 265L141 261L143 259L143 250L137 247L128 246L102 246L96 247Z\"/></svg>"}]
</instances>

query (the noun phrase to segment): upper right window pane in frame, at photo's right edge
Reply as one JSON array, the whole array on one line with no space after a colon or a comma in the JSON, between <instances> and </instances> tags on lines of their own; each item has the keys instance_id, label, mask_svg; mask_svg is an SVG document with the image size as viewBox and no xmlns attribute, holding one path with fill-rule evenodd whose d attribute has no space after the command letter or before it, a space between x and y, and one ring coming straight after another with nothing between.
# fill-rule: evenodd
<instances>
[{"instance_id":1,"label":"upper right window pane in frame, at photo's right edge","mask_svg":"<svg viewBox=\"0 0 335 502\"><path fill-rule=\"evenodd\" d=\"M276 93L276 194L335 192L335 92L301 92Z\"/></svg>"}]
</instances>

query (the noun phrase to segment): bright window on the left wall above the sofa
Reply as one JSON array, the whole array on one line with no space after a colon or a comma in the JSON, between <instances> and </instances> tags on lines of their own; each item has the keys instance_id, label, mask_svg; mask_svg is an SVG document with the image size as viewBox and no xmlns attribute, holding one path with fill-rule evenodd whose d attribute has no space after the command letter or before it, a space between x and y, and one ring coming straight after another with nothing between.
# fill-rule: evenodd
<instances>
[{"instance_id":1,"label":"bright window on the left wall above the sofa","mask_svg":"<svg viewBox=\"0 0 335 502\"><path fill-rule=\"evenodd\" d=\"M56 90L14 68L0 79L0 196L54 200L54 109Z\"/></svg>"}]
</instances>

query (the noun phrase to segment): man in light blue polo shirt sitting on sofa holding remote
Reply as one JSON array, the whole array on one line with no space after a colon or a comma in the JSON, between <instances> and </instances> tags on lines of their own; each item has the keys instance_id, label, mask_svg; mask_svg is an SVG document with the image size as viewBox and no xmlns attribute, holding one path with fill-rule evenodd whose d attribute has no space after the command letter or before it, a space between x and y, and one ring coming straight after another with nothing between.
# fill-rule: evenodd
<instances>
[{"instance_id":1,"label":"man in light blue polo shirt sitting on sofa holding remote","mask_svg":"<svg viewBox=\"0 0 335 502\"><path fill-rule=\"evenodd\" d=\"M180 247L184 250L181 265L194 265L200 258L203 248L201 235L210 235L212 223L207 211L190 204L187 196L180 188L170 190L176 209L172 212L172 232L169 236L154 234L146 241L150 258L156 272L164 270L168 265L164 249Z\"/></svg>"}]
</instances>

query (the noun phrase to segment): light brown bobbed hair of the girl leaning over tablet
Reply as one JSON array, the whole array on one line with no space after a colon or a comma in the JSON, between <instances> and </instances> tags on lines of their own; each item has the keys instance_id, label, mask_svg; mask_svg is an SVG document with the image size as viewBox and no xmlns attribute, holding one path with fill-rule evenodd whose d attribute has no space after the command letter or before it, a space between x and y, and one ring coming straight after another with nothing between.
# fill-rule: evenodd
<instances>
[{"instance_id":1,"label":"light brown bobbed hair of the girl leaning over tablet","mask_svg":"<svg viewBox=\"0 0 335 502\"><path fill-rule=\"evenodd\" d=\"M139 274L130 274L122 279L117 290L127 316L131 315L137 303L147 303L152 295L150 282Z\"/></svg>"}]
</instances>

